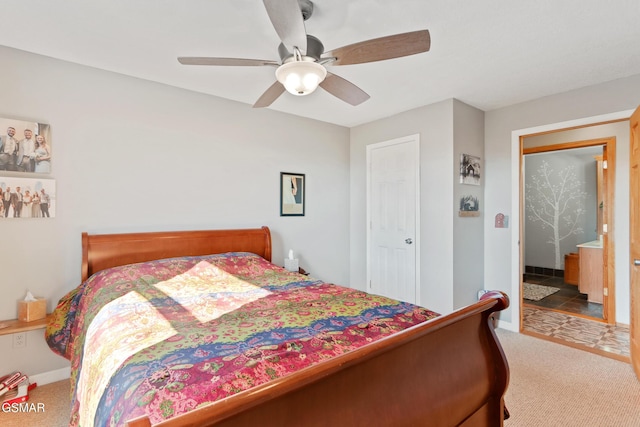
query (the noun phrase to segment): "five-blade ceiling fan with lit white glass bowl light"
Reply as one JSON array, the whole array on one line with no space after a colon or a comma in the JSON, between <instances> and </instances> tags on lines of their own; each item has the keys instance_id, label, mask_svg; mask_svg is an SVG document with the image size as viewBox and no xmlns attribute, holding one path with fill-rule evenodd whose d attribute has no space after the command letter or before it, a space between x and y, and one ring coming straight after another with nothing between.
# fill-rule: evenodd
<instances>
[{"instance_id":1,"label":"five-blade ceiling fan with lit white glass bowl light","mask_svg":"<svg viewBox=\"0 0 640 427\"><path fill-rule=\"evenodd\" d=\"M304 21L313 13L311 0L263 0L267 14L278 33L280 62L243 58L179 57L183 65L272 66L276 81L253 105L268 107L284 91L293 95L308 95L318 86L333 96L359 105L369 95L353 83L330 73L326 65L351 65L382 61L427 52L431 47L429 30L413 31L380 37L343 46L329 52L322 42L307 34Z\"/></svg>"}]
</instances>

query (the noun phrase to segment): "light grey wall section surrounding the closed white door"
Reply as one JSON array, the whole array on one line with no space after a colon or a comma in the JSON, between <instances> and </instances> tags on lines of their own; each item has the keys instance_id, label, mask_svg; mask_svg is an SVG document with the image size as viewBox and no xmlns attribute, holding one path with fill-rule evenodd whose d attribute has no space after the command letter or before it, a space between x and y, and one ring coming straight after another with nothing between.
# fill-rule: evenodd
<instances>
[{"instance_id":1,"label":"light grey wall section surrounding the closed white door","mask_svg":"<svg viewBox=\"0 0 640 427\"><path fill-rule=\"evenodd\" d=\"M482 288L482 257L476 266L466 265L475 274L473 289L454 290L454 221L459 200L454 187L458 183L460 153L473 148L482 155L482 112L450 99L416 108L396 116L377 120L351 129L351 286L365 289L366 265L366 146L378 142L420 134L420 298L418 303L440 313L457 308L466 300L472 302ZM470 133L454 124L454 117L471 124ZM460 147L455 140L467 139ZM475 133L476 136L472 135ZM474 144L480 142L480 147ZM457 191L457 190L456 190ZM472 221L474 219L471 219ZM467 223L471 224L471 222ZM482 228L478 227L482 250ZM458 253L458 256L462 254ZM462 274L462 273L460 273Z\"/></svg>"}]
</instances>

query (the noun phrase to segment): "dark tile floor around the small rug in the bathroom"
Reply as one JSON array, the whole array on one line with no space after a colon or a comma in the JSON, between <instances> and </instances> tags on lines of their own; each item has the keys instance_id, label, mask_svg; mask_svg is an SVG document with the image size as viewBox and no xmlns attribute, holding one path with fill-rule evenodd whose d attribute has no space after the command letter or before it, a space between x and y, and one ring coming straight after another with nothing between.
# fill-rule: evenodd
<instances>
[{"instance_id":1,"label":"dark tile floor around the small rug in the bathroom","mask_svg":"<svg viewBox=\"0 0 640 427\"><path fill-rule=\"evenodd\" d=\"M602 304L587 301L587 296L578 292L576 285L564 283L562 277L525 274L524 281L560 288L555 294L540 301L523 300L524 304L602 319Z\"/></svg>"}]
</instances>

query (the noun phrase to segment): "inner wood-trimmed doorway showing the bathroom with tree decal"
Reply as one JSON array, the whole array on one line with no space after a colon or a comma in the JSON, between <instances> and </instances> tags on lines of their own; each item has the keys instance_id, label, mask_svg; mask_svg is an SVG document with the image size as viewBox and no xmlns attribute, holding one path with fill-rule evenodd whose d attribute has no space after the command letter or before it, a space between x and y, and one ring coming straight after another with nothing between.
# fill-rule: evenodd
<instances>
[{"instance_id":1,"label":"inner wood-trimmed doorway showing the bathroom with tree decal","mask_svg":"<svg viewBox=\"0 0 640 427\"><path fill-rule=\"evenodd\" d=\"M557 144L557 136L523 138L522 304L607 322L615 138Z\"/></svg>"}]
</instances>

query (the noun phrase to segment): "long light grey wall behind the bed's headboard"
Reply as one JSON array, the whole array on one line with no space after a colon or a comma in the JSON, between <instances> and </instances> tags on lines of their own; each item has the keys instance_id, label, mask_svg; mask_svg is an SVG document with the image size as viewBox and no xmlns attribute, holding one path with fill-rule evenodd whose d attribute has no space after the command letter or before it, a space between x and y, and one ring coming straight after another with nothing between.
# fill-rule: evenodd
<instances>
[{"instance_id":1,"label":"long light grey wall behind the bed's headboard","mask_svg":"<svg viewBox=\"0 0 640 427\"><path fill-rule=\"evenodd\" d=\"M55 218L0 220L0 319L16 317L27 289L51 311L79 284L82 231L267 225L276 263L292 248L314 277L349 284L348 129L4 47L0 57L0 117L51 125L57 183ZM306 174L306 216L279 216L281 171ZM0 337L3 371L65 366L41 337L29 334L26 356Z\"/></svg>"}]
</instances>

